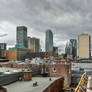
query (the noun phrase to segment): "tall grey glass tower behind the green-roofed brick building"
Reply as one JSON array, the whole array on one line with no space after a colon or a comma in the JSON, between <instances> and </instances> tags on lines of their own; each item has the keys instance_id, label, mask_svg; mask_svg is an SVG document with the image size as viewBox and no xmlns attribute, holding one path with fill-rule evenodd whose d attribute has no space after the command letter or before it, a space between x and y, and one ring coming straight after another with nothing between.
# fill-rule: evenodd
<instances>
[{"instance_id":1,"label":"tall grey glass tower behind the green-roofed brick building","mask_svg":"<svg viewBox=\"0 0 92 92\"><path fill-rule=\"evenodd\" d=\"M27 27L18 26L16 38L17 38L17 45L23 45L25 48L28 48Z\"/></svg>"}]
</instances>

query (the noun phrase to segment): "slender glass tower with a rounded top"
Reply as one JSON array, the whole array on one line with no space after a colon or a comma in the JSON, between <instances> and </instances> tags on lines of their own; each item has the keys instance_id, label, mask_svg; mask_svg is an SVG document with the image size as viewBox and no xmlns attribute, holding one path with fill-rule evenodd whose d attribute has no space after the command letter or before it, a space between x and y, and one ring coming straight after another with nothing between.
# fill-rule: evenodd
<instances>
[{"instance_id":1,"label":"slender glass tower with a rounded top","mask_svg":"<svg viewBox=\"0 0 92 92\"><path fill-rule=\"evenodd\" d=\"M46 31L45 49L46 52L53 51L53 33L51 30Z\"/></svg>"}]
</instances>

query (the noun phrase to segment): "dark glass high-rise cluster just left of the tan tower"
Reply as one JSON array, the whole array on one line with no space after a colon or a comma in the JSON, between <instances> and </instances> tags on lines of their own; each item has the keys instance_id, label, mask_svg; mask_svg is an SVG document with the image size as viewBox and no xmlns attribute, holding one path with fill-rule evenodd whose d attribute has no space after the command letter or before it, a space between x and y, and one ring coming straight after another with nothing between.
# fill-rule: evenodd
<instances>
[{"instance_id":1,"label":"dark glass high-rise cluster just left of the tan tower","mask_svg":"<svg viewBox=\"0 0 92 92\"><path fill-rule=\"evenodd\" d=\"M70 39L67 42L65 53L67 55L72 55L72 57L77 56L77 40L76 39Z\"/></svg>"}]
</instances>

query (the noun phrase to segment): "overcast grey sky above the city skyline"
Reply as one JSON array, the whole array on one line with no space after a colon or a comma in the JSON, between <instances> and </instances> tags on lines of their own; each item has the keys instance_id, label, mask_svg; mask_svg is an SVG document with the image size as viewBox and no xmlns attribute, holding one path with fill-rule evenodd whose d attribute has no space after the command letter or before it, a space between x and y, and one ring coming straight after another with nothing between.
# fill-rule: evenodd
<instances>
[{"instance_id":1,"label":"overcast grey sky above the city skyline","mask_svg":"<svg viewBox=\"0 0 92 92\"><path fill-rule=\"evenodd\" d=\"M64 52L66 41L80 33L92 35L92 0L0 0L0 42L16 44L16 26L28 27L28 35L41 40L52 29L54 45Z\"/></svg>"}]
</instances>

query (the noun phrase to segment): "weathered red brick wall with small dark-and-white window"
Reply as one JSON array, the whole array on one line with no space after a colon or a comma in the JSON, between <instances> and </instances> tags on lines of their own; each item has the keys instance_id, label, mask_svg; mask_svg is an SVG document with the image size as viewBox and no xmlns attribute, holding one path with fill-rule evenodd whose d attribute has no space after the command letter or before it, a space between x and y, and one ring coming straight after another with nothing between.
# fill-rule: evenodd
<instances>
[{"instance_id":1,"label":"weathered red brick wall with small dark-and-white window","mask_svg":"<svg viewBox=\"0 0 92 92\"><path fill-rule=\"evenodd\" d=\"M64 85L71 83L71 69L68 64L49 65L50 77L64 77Z\"/></svg>"}]
</instances>

